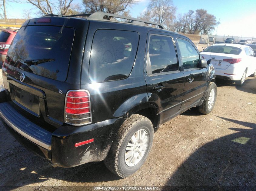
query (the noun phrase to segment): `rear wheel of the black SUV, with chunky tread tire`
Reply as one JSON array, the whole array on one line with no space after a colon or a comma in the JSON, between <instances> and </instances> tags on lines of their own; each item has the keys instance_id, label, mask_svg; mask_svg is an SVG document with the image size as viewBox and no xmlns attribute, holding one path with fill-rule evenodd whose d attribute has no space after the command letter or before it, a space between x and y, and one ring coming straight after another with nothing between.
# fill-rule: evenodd
<instances>
[{"instance_id":1,"label":"rear wheel of the black SUV, with chunky tread tire","mask_svg":"<svg viewBox=\"0 0 256 191\"><path fill-rule=\"evenodd\" d=\"M122 178L135 173L146 161L153 137L151 121L145 116L131 115L117 132L104 160L106 167Z\"/></svg>"}]
</instances>

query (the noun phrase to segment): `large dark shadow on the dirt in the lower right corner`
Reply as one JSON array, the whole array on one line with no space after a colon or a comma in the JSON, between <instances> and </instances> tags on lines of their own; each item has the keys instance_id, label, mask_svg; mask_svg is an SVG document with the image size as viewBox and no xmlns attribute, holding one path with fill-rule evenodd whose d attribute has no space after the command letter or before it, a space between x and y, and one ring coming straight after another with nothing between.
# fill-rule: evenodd
<instances>
[{"instance_id":1,"label":"large dark shadow on the dirt in the lower right corner","mask_svg":"<svg viewBox=\"0 0 256 191\"><path fill-rule=\"evenodd\" d=\"M175 190L256 189L256 124L220 118L235 123L229 128L235 132L196 150L178 167L166 186Z\"/></svg>"}]
</instances>

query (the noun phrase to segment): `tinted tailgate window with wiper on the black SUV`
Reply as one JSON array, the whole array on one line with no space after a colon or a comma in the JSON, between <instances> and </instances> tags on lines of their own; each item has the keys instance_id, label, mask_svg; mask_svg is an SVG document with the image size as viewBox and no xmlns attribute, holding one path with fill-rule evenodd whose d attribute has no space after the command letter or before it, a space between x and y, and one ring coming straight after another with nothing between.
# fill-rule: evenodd
<instances>
[{"instance_id":1,"label":"tinted tailgate window with wiper on the black SUV","mask_svg":"<svg viewBox=\"0 0 256 191\"><path fill-rule=\"evenodd\" d=\"M26 72L65 81L74 29L53 26L22 27L9 48L6 62Z\"/></svg>"}]
</instances>

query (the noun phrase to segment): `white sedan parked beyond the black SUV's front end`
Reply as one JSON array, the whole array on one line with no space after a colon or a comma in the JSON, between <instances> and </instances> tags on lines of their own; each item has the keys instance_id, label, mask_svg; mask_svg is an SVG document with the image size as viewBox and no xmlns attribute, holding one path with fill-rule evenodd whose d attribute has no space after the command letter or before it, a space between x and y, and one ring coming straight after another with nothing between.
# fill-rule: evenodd
<instances>
[{"instance_id":1,"label":"white sedan parked beyond the black SUV's front end","mask_svg":"<svg viewBox=\"0 0 256 191\"><path fill-rule=\"evenodd\" d=\"M245 78L256 76L256 57L251 47L240 44L213 44L201 52L204 59L210 60L216 78L244 84Z\"/></svg>"}]
</instances>

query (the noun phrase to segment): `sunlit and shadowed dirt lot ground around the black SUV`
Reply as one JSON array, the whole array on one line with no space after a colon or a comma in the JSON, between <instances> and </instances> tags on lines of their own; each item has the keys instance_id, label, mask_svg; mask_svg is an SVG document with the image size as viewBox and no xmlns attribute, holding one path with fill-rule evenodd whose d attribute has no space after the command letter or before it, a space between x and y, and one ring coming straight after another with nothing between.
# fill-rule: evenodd
<instances>
[{"instance_id":1,"label":"sunlit and shadowed dirt lot ground around the black SUV","mask_svg":"<svg viewBox=\"0 0 256 191\"><path fill-rule=\"evenodd\" d=\"M247 78L243 87L218 82L213 112L202 115L192 108L160 126L147 161L137 173L125 179L110 173L103 162L53 168L23 148L0 124L0 186L18 186L17 190L95 185L214 186L217 189L245 186L254 190L255 84L253 77ZM50 187L43 187L47 185ZM78 187L61 187L62 190L71 188Z\"/></svg>"}]
</instances>

